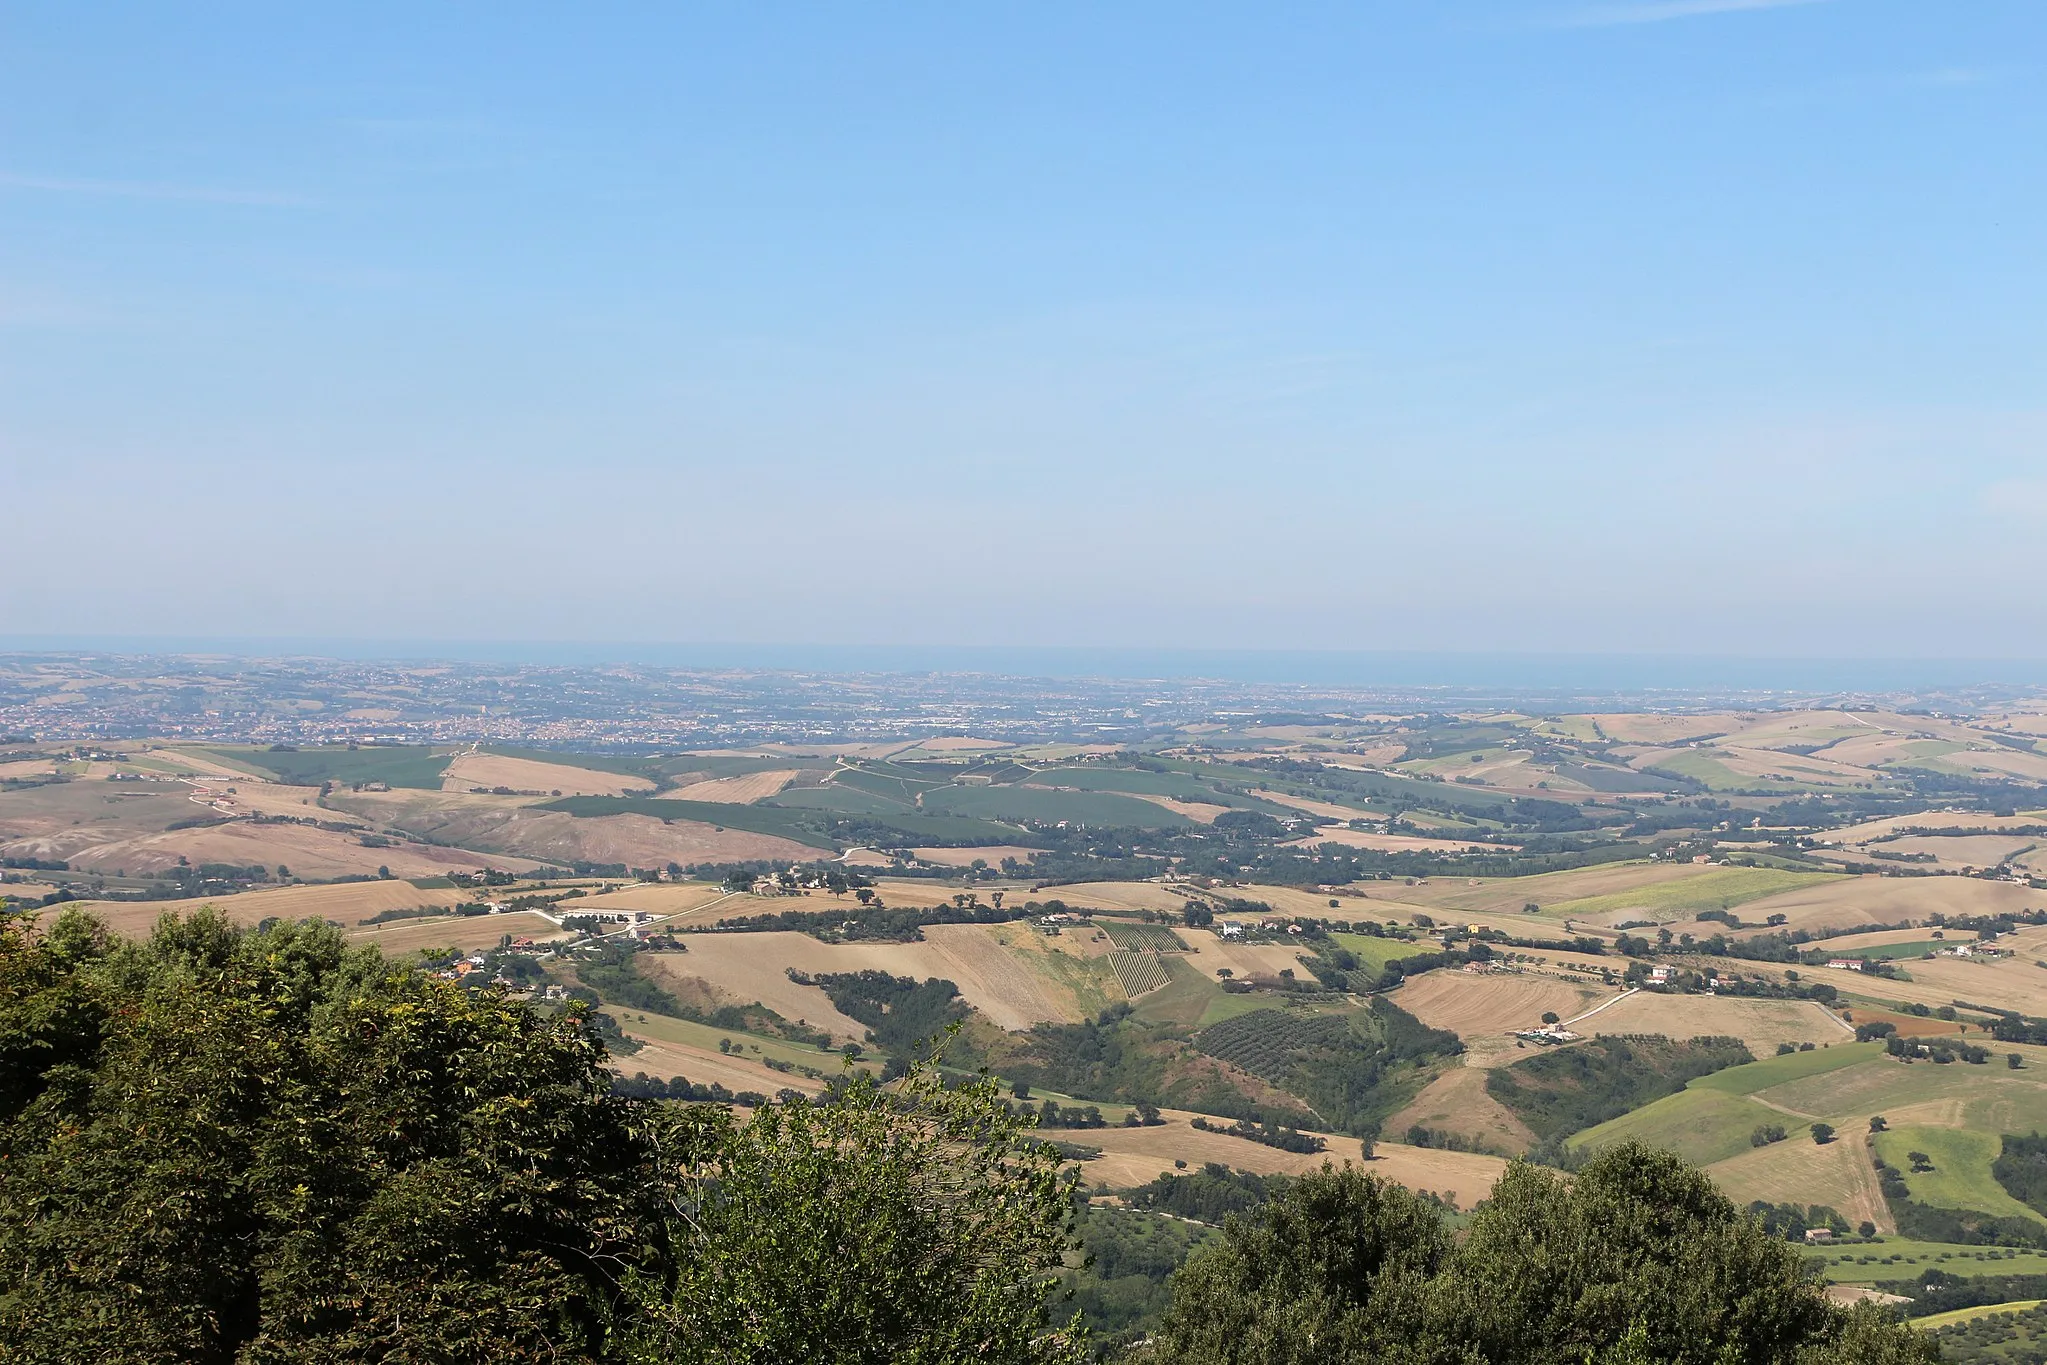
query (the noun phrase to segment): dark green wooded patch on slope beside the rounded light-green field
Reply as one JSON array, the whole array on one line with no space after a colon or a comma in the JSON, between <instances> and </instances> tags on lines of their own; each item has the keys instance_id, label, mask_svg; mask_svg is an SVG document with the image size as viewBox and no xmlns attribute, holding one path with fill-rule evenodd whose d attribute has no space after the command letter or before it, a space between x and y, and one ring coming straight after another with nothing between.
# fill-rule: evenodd
<instances>
[{"instance_id":1,"label":"dark green wooded patch on slope beside the rounded light-green field","mask_svg":"<svg viewBox=\"0 0 2047 1365\"><path fill-rule=\"evenodd\" d=\"M1543 1140L1566 1138L1674 1095L1697 1076L1750 1062L1738 1038L1599 1036L1486 1076L1486 1093Z\"/></svg>"}]
</instances>

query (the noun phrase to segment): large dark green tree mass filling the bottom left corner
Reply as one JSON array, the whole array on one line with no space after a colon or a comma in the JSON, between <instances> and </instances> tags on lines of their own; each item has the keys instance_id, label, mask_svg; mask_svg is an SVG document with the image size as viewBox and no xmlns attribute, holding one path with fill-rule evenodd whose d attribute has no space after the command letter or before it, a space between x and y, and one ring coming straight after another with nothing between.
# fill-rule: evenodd
<instances>
[{"instance_id":1,"label":"large dark green tree mass filling the bottom left corner","mask_svg":"<svg viewBox=\"0 0 2047 1365\"><path fill-rule=\"evenodd\" d=\"M0 1058L14 1359L585 1359L641 1244L577 1017L319 923L8 923Z\"/></svg>"}]
</instances>

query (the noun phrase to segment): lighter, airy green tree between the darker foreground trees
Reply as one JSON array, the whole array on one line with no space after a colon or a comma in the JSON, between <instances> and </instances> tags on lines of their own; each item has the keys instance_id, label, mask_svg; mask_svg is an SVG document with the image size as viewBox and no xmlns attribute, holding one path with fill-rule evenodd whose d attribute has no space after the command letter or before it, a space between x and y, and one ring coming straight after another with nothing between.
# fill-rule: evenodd
<instances>
[{"instance_id":1,"label":"lighter, airy green tree between the darker foreground trees","mask_svg":"<svg viewBox=\"0 0 2047 1365\"><path fill-rule=\"evenodd\" d=\"M643 1277L649 1312L624 1357L645 1365L1081 1361L1044 1332L1066 1246L1073 1173L1028 1138L989 1083L860 1076L827 1103L792 1097L741 1124L669 1111L651 1142L676 1171L676 1269Z\"/></svg>"}]
</instances>

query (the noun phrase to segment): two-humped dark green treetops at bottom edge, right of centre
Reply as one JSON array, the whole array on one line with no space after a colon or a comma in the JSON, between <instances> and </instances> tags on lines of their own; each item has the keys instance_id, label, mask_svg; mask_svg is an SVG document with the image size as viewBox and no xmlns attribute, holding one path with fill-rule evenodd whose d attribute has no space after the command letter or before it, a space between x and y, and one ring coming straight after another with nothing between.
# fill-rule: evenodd
<instances>
[{"instance_id":1,"label":"two-humped dark green treetops at bottom edge, right of centre","mask_svg":"<svg viewBox=\"0 0 2047 1365\"><path fill-rule=\"evenodd\" d=\"M1302 1177L1232 1220L1177 1281L1159 1359L1187 1365L1650 1361L1922 1365L1932 1342L1830 1306L1676 1156L1515 1162L1453 1244L1427 1201L1357 1169Z\"/></svg>"}]
</instances>

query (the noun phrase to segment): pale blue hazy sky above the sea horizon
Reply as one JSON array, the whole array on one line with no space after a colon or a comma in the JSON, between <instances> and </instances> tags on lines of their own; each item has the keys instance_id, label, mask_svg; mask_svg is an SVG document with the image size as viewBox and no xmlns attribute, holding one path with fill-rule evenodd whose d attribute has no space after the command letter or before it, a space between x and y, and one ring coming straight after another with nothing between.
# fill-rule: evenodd
<instances>
[{"instance_id":1,"label":"pale blue hazy sky above the sea horizon","mask_svg":"<svg viewBox=\"0 0 2047 1365\"><path fill-rule=\"evenodd\" d=\"M2047 655L2039 0L0 8L0 634Z\"/></svg>"}]
</instances>

